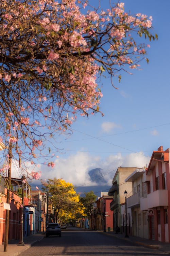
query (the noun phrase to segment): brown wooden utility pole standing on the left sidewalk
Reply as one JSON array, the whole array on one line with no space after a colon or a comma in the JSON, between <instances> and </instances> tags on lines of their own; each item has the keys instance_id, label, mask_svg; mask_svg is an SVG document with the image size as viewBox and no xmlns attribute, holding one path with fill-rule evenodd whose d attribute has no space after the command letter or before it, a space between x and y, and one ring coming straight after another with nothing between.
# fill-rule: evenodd
<instances>
[{"instance_id":1,"label":"brown wooden utility pole standing on the left sidewalk","mask_svg":"<svg viewBox=\"0 0 170 256\"><path fill-rule=\"evenodd\" d=\"M12 143L9 143L9 163L8 163L8 179L7 179L7 197L6 203L10 204L10 192L11 192L11 162L12 162ZM10 210L6 210L5 216L5 237L4 237L4 252L7 252L8 246L8 231L9 231L9 216Z\"/></svg>"}]
</instances>

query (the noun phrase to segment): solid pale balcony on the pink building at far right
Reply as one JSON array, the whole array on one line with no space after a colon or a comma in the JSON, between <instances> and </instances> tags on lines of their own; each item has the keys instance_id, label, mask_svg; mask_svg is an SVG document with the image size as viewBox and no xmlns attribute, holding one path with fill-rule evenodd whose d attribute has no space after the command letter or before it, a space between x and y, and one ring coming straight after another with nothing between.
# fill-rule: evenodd
<instances>
[{"instance_id":1,"label":"solid pale balcony on the pink building at far right","mask_svg":"<svg viewBox=\"0 0 170 256\"><path fill-rule=\"evenodd\" d=\"M147 198L140 198L140 210L146 211L149 208L168 206L168 190L158 189L147 195Z\"/></svg>"}]
</instances>

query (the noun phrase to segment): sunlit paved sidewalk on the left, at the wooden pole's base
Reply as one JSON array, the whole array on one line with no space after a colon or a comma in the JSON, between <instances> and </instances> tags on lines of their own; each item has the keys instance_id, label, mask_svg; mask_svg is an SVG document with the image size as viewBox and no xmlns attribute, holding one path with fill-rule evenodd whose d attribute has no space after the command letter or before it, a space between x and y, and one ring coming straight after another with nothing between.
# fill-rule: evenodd
<instances>
[{"instance_id":1,"label":"sunlit paved sidewalk on the left, at the wooden pole's base","mask_svg":"<svg viewBox=\"0 0 170 256\"><path fill-rule=\"evenodd\" d=\"M18 254L26 251L28 248L31 247L37 241L40 241L44 238L44 234L42 232L33 234L29 237L24 237L23 241L25 245L18 245L19 240L12 240L8 242L7 252L4 252L4 246L0 246L0 256L17 256Z\"/></svg>"}]
</instances>

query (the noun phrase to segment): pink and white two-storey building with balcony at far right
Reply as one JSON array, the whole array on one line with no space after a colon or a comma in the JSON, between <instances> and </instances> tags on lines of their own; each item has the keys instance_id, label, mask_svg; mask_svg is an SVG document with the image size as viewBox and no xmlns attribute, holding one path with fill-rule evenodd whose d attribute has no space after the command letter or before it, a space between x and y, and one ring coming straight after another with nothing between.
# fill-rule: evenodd
<instances>
[{"instance_id":1,"label":"pink and white two-storey building with balcony at far right","mask_svg":"<svg viewBox=\"0 0 170 256\"><path fill-rule=\"evenodd\" d=\"M146 175L147 197L141 198L140 209L148 213L149 239L170 243L170 148L153 151ZM169 214L168 214L169 213Z\"/></svg>"}]
</instances>

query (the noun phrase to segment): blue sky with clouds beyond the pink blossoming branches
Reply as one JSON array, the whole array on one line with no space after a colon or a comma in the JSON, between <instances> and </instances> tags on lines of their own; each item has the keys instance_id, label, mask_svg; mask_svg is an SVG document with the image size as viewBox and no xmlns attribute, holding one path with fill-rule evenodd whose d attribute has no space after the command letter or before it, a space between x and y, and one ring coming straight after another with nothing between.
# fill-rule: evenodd
<instances>
[{"instance_id":1,"label":"blue sky with clouds beyond the pink blossoming branches","mask_svg":"<svg viewBox=\"0 0 170 256\"><path fill-rule=\"evenodd\" d=\"M97 0L91 0L95 5ZM124 9L131 14L143 13L153 17L153 33L158 41L148 48L149 64L141 62L141 71L123 74L114 89L109 79L102 79L100 108L104 113L78 117L72 125L73 134L58 137L63 153L55 168L41 167L42 178L63 178L75 186L89 183L88 171L102 168L105 180L112 186L119 167L143 167L159 146L170 147L169 106L169 0L125 0ZM103 9L109 0L101 0ZM144 39L143 39L144 40ZM117 81L116 81L117 82ZM101 84L100 84L101 85Z\"/></svg>"}]
</instances>

